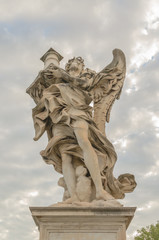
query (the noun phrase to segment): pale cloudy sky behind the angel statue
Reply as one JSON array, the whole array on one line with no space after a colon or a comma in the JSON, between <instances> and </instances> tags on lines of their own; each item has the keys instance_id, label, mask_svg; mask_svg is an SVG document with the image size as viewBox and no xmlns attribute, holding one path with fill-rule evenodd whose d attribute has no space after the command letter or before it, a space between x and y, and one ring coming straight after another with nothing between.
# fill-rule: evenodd
<instances>
[{"instance_id":1,"label":"pale cloudy sky behind the angel statue","mask_svg":"<svg viewBox=\"0 0 159 240\"><path fill-rule=\"evenodd\" d=\"M115 176L135 174L138 186L125 206L136 206L128 229L159 220L159 3L158 0L0 0L0 239L38 239L29 206L62 198L60 177L39 152L47 138L33 141L32 99L25 93L40 57L53 47L63 57L82 56L99 71L120 48L127 77L107 125L118 154Z\"/></svg>"}]
</instances>

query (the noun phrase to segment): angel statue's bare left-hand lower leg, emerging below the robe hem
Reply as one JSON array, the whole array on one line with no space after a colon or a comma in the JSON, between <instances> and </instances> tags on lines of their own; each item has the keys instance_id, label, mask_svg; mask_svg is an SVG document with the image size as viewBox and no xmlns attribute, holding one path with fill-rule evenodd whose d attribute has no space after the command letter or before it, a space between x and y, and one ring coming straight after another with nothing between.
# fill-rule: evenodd
<instances>
[{"instance_id":1,"label":"angel statue's bare left-hand lower leg, emerging below the robe hem","mask_svg":"<svg viewBox=\"0 0 159 240\"><path fill-rule=\"evenodd\" d=\"M74 201L79 201L76 195L76 176L75 169L72 165L72 157L68 154L61 154L62 157L62 172L67 185L67 189L71 198L67 199L66 203L72 203Z\"/></svg>"}]
</instances>

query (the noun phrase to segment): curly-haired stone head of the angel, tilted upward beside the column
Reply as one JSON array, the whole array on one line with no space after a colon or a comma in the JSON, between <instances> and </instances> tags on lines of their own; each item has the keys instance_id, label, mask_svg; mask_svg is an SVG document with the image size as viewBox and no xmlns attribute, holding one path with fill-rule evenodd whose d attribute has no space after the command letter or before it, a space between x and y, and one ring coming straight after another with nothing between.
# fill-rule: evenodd
<instances>
[{"instance_id":1,"label":"curly-haired stone head of the angel, tilted upward beside the column","mask_svg":"<svg viewBox=\"0 0 159 240\"><path fill-rule=\"evenodd\" d=\"M65 66L66 72L76 72L78 75L84 70L84 60L81 57L72 58L68 60L68 63Z\"/></svg>"}]
</instances>

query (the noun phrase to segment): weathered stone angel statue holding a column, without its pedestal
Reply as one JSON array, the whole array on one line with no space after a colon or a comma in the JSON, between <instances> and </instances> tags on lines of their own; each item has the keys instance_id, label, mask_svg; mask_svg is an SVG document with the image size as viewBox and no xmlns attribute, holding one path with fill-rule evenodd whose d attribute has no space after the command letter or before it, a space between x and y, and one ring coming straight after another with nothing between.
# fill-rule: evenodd
<instances>
[{"instance_id":1,"label":"weathered stone angel statue holding a column, without its pedestal","mask_svg":"<svg viewBox=\"0 0 159 240\"><path fill-rule=\"evenodd\" d=\"M66 204L122 199L136 187L131 174L113 176L117 155L105 133L126 72L124 53L115 49L113 56L98 73L85 68L81 57L70 59L64 70L58 65L62 56L51 48L41 58L45 69L27 89L36 103L34 140L47 132L40 154L63 175L58 184Z\"/></svg>"}]
</instances>

